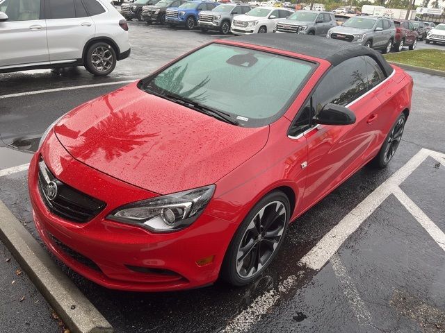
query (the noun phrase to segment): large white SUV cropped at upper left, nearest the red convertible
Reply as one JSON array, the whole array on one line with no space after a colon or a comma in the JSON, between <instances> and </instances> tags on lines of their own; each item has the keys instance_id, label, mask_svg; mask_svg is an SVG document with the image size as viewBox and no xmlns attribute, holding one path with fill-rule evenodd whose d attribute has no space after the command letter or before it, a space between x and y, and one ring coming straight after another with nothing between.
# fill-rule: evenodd
<instances>
[{"instance_id":1,"label":"large white SUV cropped at upper left, nearest the red convertible","mask_svg":"<svg viewBox=\"0 0 445 333\"><path fill-rule=\"evenodd\" d=\"M83 65L105 76L129 54L111 1L0 0L0 73Z\"/></svg>"}]
</instances>

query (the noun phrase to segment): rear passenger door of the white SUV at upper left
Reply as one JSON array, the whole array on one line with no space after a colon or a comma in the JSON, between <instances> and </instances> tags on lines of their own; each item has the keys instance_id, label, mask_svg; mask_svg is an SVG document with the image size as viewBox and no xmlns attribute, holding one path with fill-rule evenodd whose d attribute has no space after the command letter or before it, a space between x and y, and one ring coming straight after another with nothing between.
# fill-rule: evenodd
<instances>
[{"instance_id":1,"label":"rear passenger door of the white SUV at upper left","mask_svg":"<svg viewBox=\"0 0 445 333\"><path fill-rule=\"evenodd\" d=\"M93 2L94 1L94 2ZM86 3L87 8L83 6ZM86 42L95 36L95 22L88 15L96 0L46 0L45 17L49 60L77 60L83 56Z\"/></svg>"}]
</instances>

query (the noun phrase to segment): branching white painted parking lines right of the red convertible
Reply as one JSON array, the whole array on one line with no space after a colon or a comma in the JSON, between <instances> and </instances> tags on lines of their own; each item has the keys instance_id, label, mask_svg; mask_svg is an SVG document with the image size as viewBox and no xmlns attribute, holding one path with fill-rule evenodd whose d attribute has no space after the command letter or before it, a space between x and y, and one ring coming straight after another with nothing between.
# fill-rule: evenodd
<instances>
[{"instance_id":1,"label":"branching white painted parking lines right of the red convertible","mask_svg":"<svg viewBox=\"0 0 445 333\"><path fill-rule=\"evenodd\" d=\"M436 160L441 162L442 164L445 162L445 154L438 153L436 151L430 151L429 149L422 148L416 155L414 155L401 169L398 169L396 173L394 173L391 177L389 177L385 182L382 183L377 189L375 189L368 197L366 197L362 203L359 203L357 207L355 207L348 215L346 215L340 222L337 224L330 232L327 232L325 236L318 241L316 246L312 248L312 250L309 250L309 253L307 253L300 261L298 262L298 265L306 265L309 268L312 268L316 271L323 268L323 266L327 263L328 260L332 258L332 255L334 255L341 244L343 244L348 237L350 237L357 228L363 223L365 219L367 219L379 206L380 204L390 195L390 194L396 194L397 189L400 189L398 185L401 185L401 183L408 177L410 174L417 168L419 165L426 159L426 157L431 156L434 157ZM401 201L403 205L405 205L404 201ZM414 203L412 203L414 204ZM421 219L422 225L424 225L424 228L426 230L434 235L432 236L435 241L439 245L444 239L442 238L442 235L437 232L437 226L434 228L434 223L428 219L428 216L423 216L419 214L418 211L413 210L412 207L414 207L411 203L407 203L410 209L408 209L410 212L413 211L417 216L419 216L419 219ZM406 207L406 206L405 206ZM417 207L419 209L419 207ZM420 210L420 209L419 209ZM413 214L413 213L412 213ZM413 214L414 215L414 214ZM414 215L416 217L416 215ZM417 218L416 218L417 219ZM428 221L429 220L429 221ZM432 226L431 225L434 225ZM427 229L428 228L428 229ZM442 232L441 230L439 230ZM442 233L443 234L443 233ZM443 245L441 245L443 246ZM443 247L442 247L443 248ZM332 265L338 264L335 262L332 262ZM337 265L337 274L341 276L341 272L343 271L343 268L341 266ZM333 268L334 271L336 268ZM345 268L346 269L346 268ZM341 276L343 279L343 277ZM286 293L286 291L289 291L292 287L296 286L296 283L298 282L298 278L296 278L295 275L291 275L289 278L284 280L284 282L280 283L278 285L278 292L279 293ZM353 301L359 301L360 298L357 297L358 292L355 293L353 289L350 289L350 302ZM234 317L228 324L227 327L222 332L225 333L233 333L233 332L245 332L249 330L253 325L258 323L261 320L261 316L264 314L268 314L270 309L275 305L277 300L280 299L280 294L276 291L268 291L267 293L264 293L263 295L259 296L252 304L248 307L248 309L245 309L244 311L241 311L238 316ZM348 297L348 296L347 296ZM362 307L361 305L357 305L357 307L353 310L355 311L355 314L357 318L360 318L359 321L362 323L369 323L371 324L371 315L366 314L366 307ZM368 321L369 318L369 321Z\"/></svg>"}]
</instances>

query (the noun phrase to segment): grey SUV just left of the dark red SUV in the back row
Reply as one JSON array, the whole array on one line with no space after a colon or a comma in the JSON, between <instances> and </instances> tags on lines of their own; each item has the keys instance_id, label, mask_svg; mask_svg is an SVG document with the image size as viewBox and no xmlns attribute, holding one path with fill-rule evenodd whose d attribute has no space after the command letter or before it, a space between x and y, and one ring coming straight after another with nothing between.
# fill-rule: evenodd
<instances>
[{"instance_id":1,"label":"grey SUV just left of the dark red SUV in the back row","mask_svg":"<svg viewBox=\"0 0 445 333\"><path fill-rule=\"evenodd\" d=\"M382 50L391 51L396 37L394 22L385 17L355 16L327 32L326 37L335 40L345 40Z\"/></svg>"}]
</instances>

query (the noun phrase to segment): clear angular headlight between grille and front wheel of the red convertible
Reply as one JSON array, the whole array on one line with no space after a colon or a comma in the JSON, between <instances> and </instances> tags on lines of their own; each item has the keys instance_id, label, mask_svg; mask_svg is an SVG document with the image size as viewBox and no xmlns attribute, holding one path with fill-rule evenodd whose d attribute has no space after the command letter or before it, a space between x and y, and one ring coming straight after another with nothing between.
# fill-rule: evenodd
<instances>
[{"instance_id":1,"label":"clear angular headlight between grille and front wheel of the red convertible","mask_svg":"<svg viewBox=\"0 0 445 333\"><path fill-rule=\"evenodd\" d=\"M215 185L158 196L119 207L107 219L140 225L154 232L186 228L196 221L209 203Z\"/></svg>"}]
</instances>

